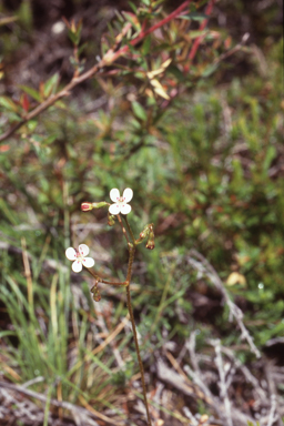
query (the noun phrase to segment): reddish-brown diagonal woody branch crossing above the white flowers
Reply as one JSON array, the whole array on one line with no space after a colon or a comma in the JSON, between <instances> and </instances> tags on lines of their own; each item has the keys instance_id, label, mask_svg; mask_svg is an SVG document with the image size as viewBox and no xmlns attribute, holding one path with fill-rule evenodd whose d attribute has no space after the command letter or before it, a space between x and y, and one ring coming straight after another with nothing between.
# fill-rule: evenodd
<instances>
[{"instance_id":1,"label":"reddish-brown diagonal woody branch crossing above the white flowers","mask_svg":"<svg viewBox=\"0 0 284 426\"><path fill-rule=\"evenodd\" d=\"M149 28L148 30L141 31L141 33L134 40L131 40L129 44L136 45L148 34L152 33L156 29L161 28L165 23L168 23L171 20L173 20L174 18L176 18L191 3L191 1L192 0L184 1L178 9L175 9L166 18L162 19L160 22L158 22L153 27ZM97 65L92 67L89 71L84 72L83 74L81 74L79 77L73 77L72 80L70 81L70 83L68 83L60 92L58 92L57 94L51 94L45 101L43 101L41 104L36 106L31 112L29 112L19 123L17 123L16 125L12 125L10 129L8 129L0 136L0 142L4 141L9 136L11 136L24 123L27 123L31 119L34 119L41 112L45 111L49 106L53 105L58 100L60 100L61 98L68 97L74 87L77 87L78 84L82 83L83 81L90 79L91 77L93 77L97 72L99 72L104 67L111 65L118 58L120 58L121 55L126 53L129 50L130 50L129 45L123 45L116 52L114 52L113 49L108 50L105 55L101 59L101 61Z\"/></svg>"}]
</instances>

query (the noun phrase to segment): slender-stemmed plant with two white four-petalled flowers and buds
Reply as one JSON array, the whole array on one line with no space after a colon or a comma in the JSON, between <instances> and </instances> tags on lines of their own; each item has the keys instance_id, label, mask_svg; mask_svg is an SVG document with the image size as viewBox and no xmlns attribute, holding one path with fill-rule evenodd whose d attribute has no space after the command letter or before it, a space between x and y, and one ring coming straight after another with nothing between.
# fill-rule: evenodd
<instances>
[{"instance_id":1,"label":"slender-stemmed plant with two white four-petalled flowers and buds","mask_svg":"<svg viewBox=\"0 0 284 426\"><path fill-rule=\"evenodd\" d=\"M110 199L113 204L110 204L105 201L100 202L83 202L81 204L81 210L83 212L89 212L93 209L101 209L101 207L108 207L108 223L110 226L113 226L115 224L115 220L118 219L119 224L122 229L123 235L128 243L129 248L129 264L128 264L128 273L126 278L123 282L110 282L106 280L103 280L101 276L99 276L95 271L92 270L94 266L94 260L92 257L88 257L89 254L89 247L85 244L80 244L79 248L75 250L73 247L69 247L65 251L65 256L69 258L69 261L73 261L72 263L72 270L73 272L81 272L84 267L93 277L94 277L94 285L91 288L91 293L93 294L93 300L95 302L99 302L101 300L100 291L98 288L99 283L103 284L111 284L111 285L122 285L126 288L126 298L128 298L128 308L130 313L130 318L132 323L132 329L133 329L133 337L135 342L135 349L138 354L138 361L140 366L140 373L141 373L141 381L142 381L142 387L143 387L143 396L144 396L144 404L146 408L146 416L148 416L148 423L149 426L152 426L151 417L150 417L150 409L146 398L146 387L145 387L145 379L144 379L144 369L142 359L140 356L140 348L136 337L136 327L132 311L132 304L131 304L131 296L130 296L130 282L131 282L131 275L132 275L132 264L134 260L135 248L136 245L142 243L144 240L146 240L146 248L153 250L154 244L154 231L153 231L153 224L148 224L143 231L140 233L139 239L134 237L134 234L130 227L129 221L128 221L128 214L131 212L131 205L129 202L133 197L133 191L130 187L126 187L122 195L120 195L120 191L114 187L110 192Z\"/></svg>"}]
</instances>

